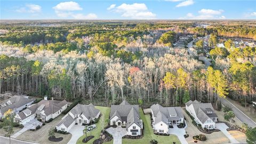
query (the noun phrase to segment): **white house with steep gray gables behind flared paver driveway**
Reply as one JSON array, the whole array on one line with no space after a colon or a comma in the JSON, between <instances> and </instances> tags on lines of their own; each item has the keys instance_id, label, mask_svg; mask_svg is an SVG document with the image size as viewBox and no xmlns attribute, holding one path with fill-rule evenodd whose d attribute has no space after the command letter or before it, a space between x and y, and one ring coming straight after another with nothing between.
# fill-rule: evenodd
<instances>
[{"instance_id":1,"label":"white house with steep gray gables behind flared paver driveway","mask_svg":"<svg viewBox=\"0 0 256 144\"><path fill-rule=\"evenodd\" d=\"M143 124L138 105L130 105L125 100L120 105L111 105L109 119L110 125L125 127L128 135L141 135Z\"/></svg>"}]
</instances>

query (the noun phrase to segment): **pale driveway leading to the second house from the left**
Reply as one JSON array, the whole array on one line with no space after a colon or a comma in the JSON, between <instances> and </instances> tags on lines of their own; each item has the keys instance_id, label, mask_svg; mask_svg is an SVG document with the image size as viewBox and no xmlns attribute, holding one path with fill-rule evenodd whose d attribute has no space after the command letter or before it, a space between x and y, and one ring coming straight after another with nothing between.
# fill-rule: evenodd
<instances>
[{"instance_id":1,"label":"pale driveway leading to the second house from the left","mask_svg":"<svg viewBox=\"0 0 256 144\"><path fill-rule=\"evenodd\" d=\"M37 121L37 119L35 118L35 119L32 119L31 121L29 121L28 123L26 123L25 125L24 125L24 127L20 130L20 131L18 131L17 133L14 133L13 135L11 135L11 137L12 138L17 138L20 134L22 134L23 132L25 132L25 131L27 131L27 130L29 130L29 129L36 129L36 126L37 125L40 125L40 126L42 126L42 122L39 122L39 121Z\"/></svg>"}]
</instances>

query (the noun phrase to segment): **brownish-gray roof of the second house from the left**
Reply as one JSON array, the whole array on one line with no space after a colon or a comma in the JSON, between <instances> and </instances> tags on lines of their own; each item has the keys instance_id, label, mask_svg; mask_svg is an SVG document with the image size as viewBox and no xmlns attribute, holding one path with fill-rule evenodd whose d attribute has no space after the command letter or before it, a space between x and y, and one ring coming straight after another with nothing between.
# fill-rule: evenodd
<instances>
[{"instance_id":1,"label":"brownish-gray roof of the second house from the left","mask_svg":"<svg viewBox=\"0 0 256 144\"><path fill-rule=\"evenodd\" d=\"M31 111L32 114L38 114L42 110L44 110L44 114L46 116L49 116L50 114L56 113L61 109L61 107L65 106L68 102L66 100L57 101L57 100L41 100L38 103L35 103L34 105L31 105L27 109ZM40 110L38 109L40 108ZM25 119L28 116L26 116L22 111L18 113L21 119Z\"/></svg>"}]
</instances>

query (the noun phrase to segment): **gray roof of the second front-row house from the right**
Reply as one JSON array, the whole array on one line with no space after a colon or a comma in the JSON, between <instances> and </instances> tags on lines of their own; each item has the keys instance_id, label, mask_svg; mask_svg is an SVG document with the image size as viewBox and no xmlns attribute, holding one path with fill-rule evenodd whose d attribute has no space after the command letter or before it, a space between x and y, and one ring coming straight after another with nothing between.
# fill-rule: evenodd
<instances>
[{"instance_id":1,"label":"gray roof of the second front-row house from the right","mask_svg":"<svg viewBox=\"0 0 256 144\"><path fill-rule=\"evenodd\" d=\"M168 123L170 120L184 118L181 107L162 107L159 104L150 107L155 117L155 124L159 122ZM176 116L171 116L176 115Z\"/></svg>"}]
</instances>

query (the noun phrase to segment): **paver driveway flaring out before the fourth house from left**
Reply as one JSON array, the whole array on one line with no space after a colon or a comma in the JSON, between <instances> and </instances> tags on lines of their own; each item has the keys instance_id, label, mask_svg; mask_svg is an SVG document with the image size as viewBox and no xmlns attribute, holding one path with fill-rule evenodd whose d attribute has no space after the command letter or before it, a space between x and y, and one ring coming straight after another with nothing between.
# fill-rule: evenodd
<instances>
[{"instance_id":1,"label":"paver driveway flaring out before the fourth house from left","mask_svg":"<svg viewBox=\"0 0 256 144\"><path fill-rule=\"evenodd\" d=\"M127 134L126 129L122 127L109 127L106 131L113 135L113 144L122 144L122 137Z\"/></svg>"}]
</instances>

